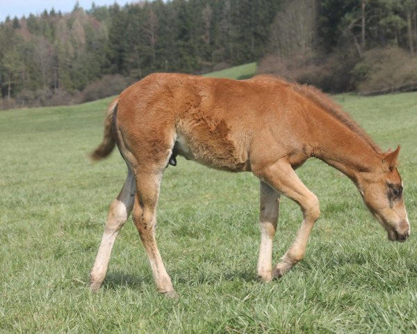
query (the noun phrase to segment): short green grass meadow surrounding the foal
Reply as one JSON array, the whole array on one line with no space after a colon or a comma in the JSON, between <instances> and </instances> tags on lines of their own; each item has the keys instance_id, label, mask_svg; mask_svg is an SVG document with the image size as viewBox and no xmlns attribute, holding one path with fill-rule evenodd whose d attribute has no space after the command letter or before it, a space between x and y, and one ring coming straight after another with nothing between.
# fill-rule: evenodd
<instances>
[{"instance_id":1,"label":"short green grass meadow surrounding the foal","mask_svg":"<svg viewBox=\"0 0 417 334\"><path fill-rule=\"evenodd\" d=\"M400 172L417 218L417 93L338 95L382 148L401 143ZM391 243L347 177L311 159L297 172L321 201L306 257L256 280L259 182L184 159L167 168L158 244L180 295L156 292L131 219L98 294L88 274L108 205L124 182L117 152L99 164L106 104L0 113L1 333L411 333L417 331L417 238ZM301 214L282 200L273 258Z\"/></svg>"}]
</instances>

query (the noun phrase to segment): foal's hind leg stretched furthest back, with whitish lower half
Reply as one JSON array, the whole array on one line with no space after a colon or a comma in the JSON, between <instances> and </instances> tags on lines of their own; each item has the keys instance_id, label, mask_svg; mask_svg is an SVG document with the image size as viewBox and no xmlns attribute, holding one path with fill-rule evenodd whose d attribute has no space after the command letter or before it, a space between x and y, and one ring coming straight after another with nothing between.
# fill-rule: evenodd
<instances>
[{"instance_id":1,"label":"foal's hind leg stretched furthest back, with whitish lower half","mask_svg":"<svg viewBox=\"0 0 417 334\"><path fill-rule=\"evenodd\" d=\"M97 257L90 273L90 289L92 292L97 292L99 290L101 283L106 277L113 244L115 243L117 234L131 214L135 192L135 178L131 168L128 166L128 173L122 190L117 198L113 200L110 209L108 210L106 228L101 239Z\"/></svg>"}]
</instances>

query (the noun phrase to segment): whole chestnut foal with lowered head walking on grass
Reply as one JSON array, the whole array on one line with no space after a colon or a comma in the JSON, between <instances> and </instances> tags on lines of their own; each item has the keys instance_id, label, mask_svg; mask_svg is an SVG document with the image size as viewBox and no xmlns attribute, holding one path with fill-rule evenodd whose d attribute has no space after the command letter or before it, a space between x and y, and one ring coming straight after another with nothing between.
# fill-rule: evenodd
<instances>
[{"instance_id":1,"label":"whole chestnut foal with lowered head walking on grass","mask_svg":"<svg viewBox=\"0 0 417 334\"><path fill-rule=\"evenodd\" d=\"M104 141L92 154L102 159L117 147L128 173L108 212L90 275L99 289L117 233L133 209L133 222L158 291L176 296L155 240L156 205L163 172L177 154L209 167L251 171L261 182L261 247L257 273L281 276L302 260L318 198L295 168L316 157L341 170L384 226L390 240L404 241L410 225L397 170L398 152L382 152L350 116L311 86L268 76L234 81L186 74L151 74L126 88L106 115ZM300 205L303 220L293 244L272 269L272 239L279 197Z\"/></svg>"}]
</instances>

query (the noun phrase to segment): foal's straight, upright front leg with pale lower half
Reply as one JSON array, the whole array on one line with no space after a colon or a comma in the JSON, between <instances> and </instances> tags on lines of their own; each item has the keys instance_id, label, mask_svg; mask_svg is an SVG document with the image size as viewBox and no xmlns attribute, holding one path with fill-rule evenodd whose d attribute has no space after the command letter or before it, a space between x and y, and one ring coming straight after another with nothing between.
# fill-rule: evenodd
<instances>
[{"instance_id":1,"label":"foal's straight, upright front leg with pale lower half","mask_svg":"<svg viewBox=\"0 0 417 334\"><path fill-rule=\"evenodd\" d=\"M259 227L261 246L259 247L258 277L264 282L272 280L272 241L277 230L280 193L261 181Z\"/></svg>"}]
</instances>

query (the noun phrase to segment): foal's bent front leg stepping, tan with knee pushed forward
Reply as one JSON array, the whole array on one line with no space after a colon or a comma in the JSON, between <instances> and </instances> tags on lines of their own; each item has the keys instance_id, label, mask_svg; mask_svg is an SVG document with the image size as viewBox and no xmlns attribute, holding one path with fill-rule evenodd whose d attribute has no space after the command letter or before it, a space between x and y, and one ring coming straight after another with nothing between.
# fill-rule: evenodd
<instances>
[{"instance_id":1,"label":"foal's bent front leg stepping, tan with knee pushed forward","mask_svg":"<svg viewBox=\"0 0 417 334\"><path fill-rule=\"evenodd\" d=\"M275 164L263 166L255 174L263 182L297 202L302 209L303 220L297 237L275 267L274 275L279 277L304 257L311 230L320 216L320 205L316 195L302 183L285 158L279 159Z\"/></svg>"}]
</instances>

